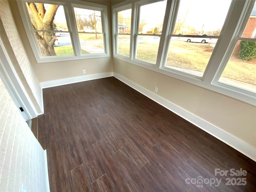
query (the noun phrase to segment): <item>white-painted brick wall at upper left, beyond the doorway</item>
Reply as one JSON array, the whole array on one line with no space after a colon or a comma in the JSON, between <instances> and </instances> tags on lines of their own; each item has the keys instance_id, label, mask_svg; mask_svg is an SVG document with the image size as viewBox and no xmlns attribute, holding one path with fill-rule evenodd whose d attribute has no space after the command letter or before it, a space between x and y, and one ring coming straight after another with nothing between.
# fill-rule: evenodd
<instances>
[{"instance_id":1,"label":"white-painted brick wall at upper left, beyond the doorway","mask_svg":"<svg viewBox=\"0 0 256 192\"><path fill-rule=\"evenodd\" d=\"M41 114L43 111L42 89L24 50L7 0L0 1L0 19L3 25L1 39L12 60L16 73L34 104L36 113ZM4 34L6 34L7 38Z\"/></svg>"}]
</instances>

